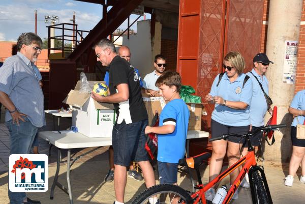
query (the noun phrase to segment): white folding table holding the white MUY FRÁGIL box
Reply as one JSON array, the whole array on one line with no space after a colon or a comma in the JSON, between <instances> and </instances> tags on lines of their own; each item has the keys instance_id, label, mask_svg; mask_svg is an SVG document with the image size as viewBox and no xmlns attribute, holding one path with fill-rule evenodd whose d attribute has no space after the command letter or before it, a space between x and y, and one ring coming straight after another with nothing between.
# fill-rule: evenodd
<instances>
[{"instance_id":1,"label":"white folding table holding the white MUY FR\u00c1GIL box","mask_svg":"<svg viewBox=\"0 0 305 204\"><path fill-rule=\"evenodd\" d=\"M80 157L97 150L100 147L111 145L111 137L97 137L97 138L89 138L81 133L75 133L73 131L44 131L39 132L39 137L42 139L50 142L57 148L57 167L56 173L54 176L54 181L51 187L50 199L54 197L54 188L58 186L64 192L69 195L70 204L73 204L73 197L72 197L72 190L71 190L71 183L70 183L70 169L74 162L79 159ZM201 130L189 130L188 137L187 137L187 155L189 151L189 140L194 138L203 138L208 137L208 132L204 132ZM71 149L74 148L89 148L89 147L97 147L93 150L90 150L74 159L71 159ZM58 173L60 163L62 162L62 153L60 152L61 149L65 149L68 151L67 154L67 184L68 188L58 182ZM72 161L72 162L71 162Z\"/></svg>"}]
</instances>

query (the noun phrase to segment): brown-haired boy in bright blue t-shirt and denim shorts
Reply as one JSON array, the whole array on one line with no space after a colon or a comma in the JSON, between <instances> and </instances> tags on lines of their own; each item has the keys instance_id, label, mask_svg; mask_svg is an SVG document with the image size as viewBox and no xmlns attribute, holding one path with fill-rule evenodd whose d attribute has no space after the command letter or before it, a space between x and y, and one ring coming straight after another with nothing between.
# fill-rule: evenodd
<instances>
[{"instance_id":1,"label":"brown-haired boy in bright blue t-shirt and denim shorts","mask_svg":"<svg viewBox=\"0 0 305 204\"><path fill-rule=\"evenodd\" d=\"M177 72L165 72L157 79L156 86L164 100L169 102L160 114L159 127L147 126L145 134L158 134L160 184L177 185L178 161L184 158L186 151L190 111L179 96L181 77Z\"/></svg>"}]
</instances>

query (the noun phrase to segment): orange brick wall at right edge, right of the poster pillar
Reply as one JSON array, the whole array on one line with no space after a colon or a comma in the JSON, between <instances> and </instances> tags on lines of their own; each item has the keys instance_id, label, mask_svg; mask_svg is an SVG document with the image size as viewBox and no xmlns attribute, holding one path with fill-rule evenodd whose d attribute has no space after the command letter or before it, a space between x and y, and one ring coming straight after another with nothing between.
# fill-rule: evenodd
<instances>
[{"instance_id":1,"label":"orange brick wall at right edge, right of the poster pillar","mask_svg":"<svg viewBox=\"0 0 305 204\"><path fill-rule=\"evenodd\" d=\"M305 2L303 2L299 46L297 51L297 67L295 93L305 89Z\"/></svg>"}]
</instances>

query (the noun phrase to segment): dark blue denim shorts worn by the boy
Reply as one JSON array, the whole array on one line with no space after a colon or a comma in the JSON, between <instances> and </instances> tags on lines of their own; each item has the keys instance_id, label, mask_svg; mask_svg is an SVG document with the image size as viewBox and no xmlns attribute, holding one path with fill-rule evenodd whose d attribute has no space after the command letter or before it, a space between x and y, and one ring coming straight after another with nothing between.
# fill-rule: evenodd
<instances>
[{"instance_id":1,"label":"dark blue denim shorts worn by the boy","mask_svg":"<svg viewBox=\"0 0 305 204\"><path fill-rule=\"evenodd\" d=\"M160 184L177 183L178 164L158 161Z\"/></svg>"}]
</instances>

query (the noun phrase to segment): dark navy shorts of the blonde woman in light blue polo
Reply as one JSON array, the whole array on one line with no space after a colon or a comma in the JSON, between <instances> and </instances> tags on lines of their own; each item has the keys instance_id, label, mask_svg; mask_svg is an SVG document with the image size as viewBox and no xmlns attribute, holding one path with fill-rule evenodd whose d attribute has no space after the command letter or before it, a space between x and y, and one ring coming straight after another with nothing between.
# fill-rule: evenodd
<instances>
[{"instance_id":1,"label":"dark navy shorts of the blonde woman in light blue polo","mask_svg":"<svg viewBox=\"0 0 305 204\"><path fill-rule=\"evenodd\" d=\"M221 123L218 123L214 120L211 120L211 137L215 138L218 136L221 136L223 134L246 134L250 130L250 125L247 126L227 126L223 125ZM228 141L234 142L234 143L243 143L245 142L244 138L231 136L227 137Z\"/></svg>"}]
</instances>

